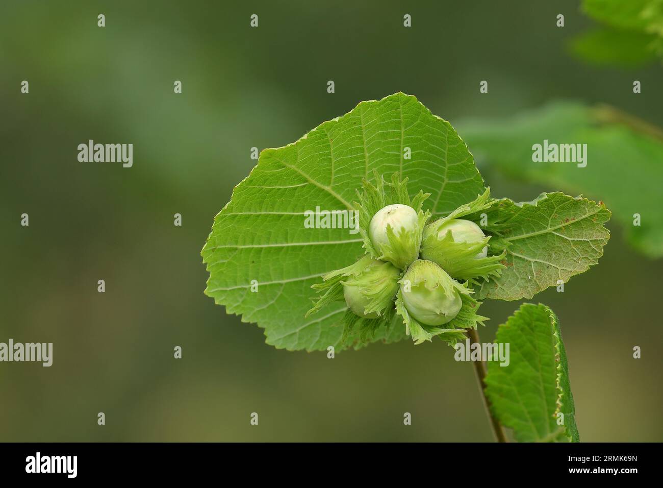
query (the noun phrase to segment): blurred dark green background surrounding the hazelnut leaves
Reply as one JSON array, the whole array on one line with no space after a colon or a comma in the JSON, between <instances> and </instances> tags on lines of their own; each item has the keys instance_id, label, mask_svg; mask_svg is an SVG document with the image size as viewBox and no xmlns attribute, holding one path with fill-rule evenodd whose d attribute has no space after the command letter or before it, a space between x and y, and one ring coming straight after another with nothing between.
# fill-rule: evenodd
<instances>
[{"instance_id":1,"label":"blurred dark green background surrounding the hazelnut leaves","mask_svg":"<svg viewBox=\"0 0 663 488\"><path fill-rule=\"evenodd\" d=\"M0 341L52 342L54 363L0 363L0 440L493 440L473 368L441 341L333 361L277 351L203 294L199 253L251 147L295 141L361 100L403 91L454 124L571 98L662 125L660 65L568 54L591 25L573 1L3 1ZM133 143L133 167L79 163L88 139ZM497 197L557 190L478 163ZM609 227L599 266L535 300L560 318L581 440L660 441L663 265ZM482 338L518 305L486 302Z\"/></svg>"}]
</instances>

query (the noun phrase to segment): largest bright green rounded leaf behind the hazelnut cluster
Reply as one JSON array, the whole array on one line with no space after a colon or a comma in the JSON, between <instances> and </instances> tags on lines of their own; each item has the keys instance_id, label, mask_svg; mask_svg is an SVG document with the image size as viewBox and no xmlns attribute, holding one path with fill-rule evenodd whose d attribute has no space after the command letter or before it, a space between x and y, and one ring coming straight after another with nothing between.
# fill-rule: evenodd
<instances>
[{"instance_id":1,"label":"largest bright green rounded leaf behind the hazelnut cluster","mask_svg":"<svg viewBox=\"0 0 663 488\"><path fill-rule=\"evenodd\" d=\"M355 191L373 170L409 177L412 196L430 193L428 208L438 216L484 191L465 143L416 98L397 93L361 102L295 143L261 152L251 175L214 219L202 250L210 272L206 293L228 313L265 328L274 347L312 351L362 345L356 336L341 342L343 303L304 319L315 296L311 285L363 254L359 234L305 228L304 212L316 206L353 208ZM252 280L257 292L251 291ZM394 319L373 340L396 341L404 332Z\"/></svg>"}]
</instances>

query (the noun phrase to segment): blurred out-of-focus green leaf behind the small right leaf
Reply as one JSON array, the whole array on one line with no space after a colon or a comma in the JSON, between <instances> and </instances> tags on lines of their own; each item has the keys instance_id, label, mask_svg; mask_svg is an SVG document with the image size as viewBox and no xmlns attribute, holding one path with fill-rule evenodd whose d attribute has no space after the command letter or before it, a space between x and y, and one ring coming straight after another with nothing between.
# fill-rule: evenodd
<instances>
[{"instance_id":1,"label":"blurred out-of-focus green leaf behind the small right leaf","mask_svg":"<svg viewBox=\"0 0 663 488\"><path fill-rule=\"evenodd\" d=\"M557 102L520 116L458 124L477 161L525 179L601 200L633 246L663 256L663 132L613 108ZM587 144L587 166L535 163L532 145ZM634 225L640 215L640 226Z\"/></svg>"}]
</instances>

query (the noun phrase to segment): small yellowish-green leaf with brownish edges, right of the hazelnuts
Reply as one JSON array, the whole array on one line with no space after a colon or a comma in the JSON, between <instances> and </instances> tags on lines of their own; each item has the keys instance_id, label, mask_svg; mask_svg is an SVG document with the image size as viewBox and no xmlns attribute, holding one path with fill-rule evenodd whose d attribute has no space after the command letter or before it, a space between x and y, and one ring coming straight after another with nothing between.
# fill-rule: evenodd
<instances>
[{"instance_id":1,"label":"small yellowish-green leaf with brownish edges, right of the hazelnuts","mask_svg":"<svg viewBox=\"0 0 663 488\"><path fill-rule=\"evenodd\" d=\"M499 278L484 282L479 298L517 300L566 283L603 255L610 211L564 193L542 193L531 202L503 199L487 214L493 254L507 250Z\"/></svg>"}]
</instances>

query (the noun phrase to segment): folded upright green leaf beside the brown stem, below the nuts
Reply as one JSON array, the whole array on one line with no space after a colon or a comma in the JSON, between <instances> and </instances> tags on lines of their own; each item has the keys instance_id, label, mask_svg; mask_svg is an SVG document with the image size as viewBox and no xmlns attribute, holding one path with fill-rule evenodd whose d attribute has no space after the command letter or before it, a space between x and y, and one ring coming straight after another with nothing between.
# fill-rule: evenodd
<instances>
[{"instance_id":1,"label":"folded upright green leaf beside the brown stem, below the nuts","mask_svg":"<svg viewBox=\"0 0 663 488\"><path fill-rule=\"evenodd\" d=\"M493 415L518 442L578 442L566 351L553 311L524 303L499 326L495 342L509 344L509 365L488 362Z\"/></svg>"}]
</instances>

